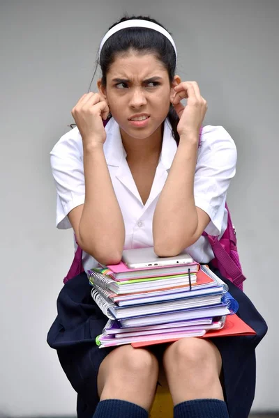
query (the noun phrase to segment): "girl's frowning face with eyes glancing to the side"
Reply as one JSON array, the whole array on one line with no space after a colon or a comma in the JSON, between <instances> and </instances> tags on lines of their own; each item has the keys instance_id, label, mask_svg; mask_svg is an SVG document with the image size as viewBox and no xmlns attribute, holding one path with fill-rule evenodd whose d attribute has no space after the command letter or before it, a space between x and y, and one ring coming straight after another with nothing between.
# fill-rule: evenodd
<instances>
[{"instance_id":1,"label":"girl's frowning face with eyes glancing to the side","mask_svg":"<svg viewBox=\"0 0 279 418\"><path fill-rule=\"evenodd\" d=\"M129 52L118 56L107 72L107 86L98 81L100 93L121 130L129 137L144 139L158 130L169 111L172 85L163 63L153 54Z\"/></svg>"}]
</instances>

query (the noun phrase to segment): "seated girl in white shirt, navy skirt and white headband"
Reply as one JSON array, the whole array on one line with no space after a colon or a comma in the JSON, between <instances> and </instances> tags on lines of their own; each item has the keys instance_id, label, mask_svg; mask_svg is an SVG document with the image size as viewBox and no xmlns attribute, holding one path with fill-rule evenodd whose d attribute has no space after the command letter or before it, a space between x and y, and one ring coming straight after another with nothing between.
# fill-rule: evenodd
<instances>
[{"instance_id":1,"label":"seated girl in white shirt, navy skirt and white headband","mask_svg":"<svg viewBox=\"0 0 279 418\"><path fill-rule=\"evenodd\" d=\"M202 232L221 236L226 229L234 141L223 127L206 126L199 146L206 100L196 82L175 75L174 40L155 20L125 17L114 24L99 59L98 93L80 98L72 109L77 127L51 153L57 227L73 227L85 272L98 262L119 263L123 248L133 247L154 247L158 256L187 248L199 263L210 263ZM77 416L146 418L162 361L174 418L248 417L255 347L266 324L248 297L223 280L256 336L102 350L95 338L107 318L91 298L86 274L68 281L47 341L77 391Z\"/></svg>"}]
</instances>

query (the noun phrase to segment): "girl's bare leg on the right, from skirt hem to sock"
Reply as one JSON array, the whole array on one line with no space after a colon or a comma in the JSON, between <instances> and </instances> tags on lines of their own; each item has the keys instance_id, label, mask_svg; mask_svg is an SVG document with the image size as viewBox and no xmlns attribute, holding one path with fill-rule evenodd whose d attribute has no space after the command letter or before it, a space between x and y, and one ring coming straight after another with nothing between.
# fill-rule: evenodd
<instances>
[{"instance_id":1,"label":"girl's bare leg on the right, from skirt hem to sock","mask_svg":"<svg viewBox=\"0 0 279 418\"><path fill-rule=\"evenodd\" d=\"M176 341L165 350L163 364L174 405L202 398L224 400L219 379L222 358L211 341Z\"/></svg>"}]
</instances>

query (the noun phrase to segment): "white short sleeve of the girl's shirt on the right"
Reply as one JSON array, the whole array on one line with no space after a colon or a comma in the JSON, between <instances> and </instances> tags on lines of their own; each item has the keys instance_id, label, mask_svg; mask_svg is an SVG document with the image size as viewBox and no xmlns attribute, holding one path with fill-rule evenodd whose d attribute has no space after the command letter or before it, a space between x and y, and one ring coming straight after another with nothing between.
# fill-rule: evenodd
<instances>
[{"instance_id":1,"label":"white short sleeve of the girl's shirt on the right","mask_svg":"<svg viewBox=\"0 0 279 418\"><path fill-rule=\"evenodd\" d=\"M236 146L222 126L205 126L202 130L195 171L195 205L206 212L211 222L205 232L220 235L227 219L225 202L230 180L236 173Z\"/></svg>"}]
</instances>

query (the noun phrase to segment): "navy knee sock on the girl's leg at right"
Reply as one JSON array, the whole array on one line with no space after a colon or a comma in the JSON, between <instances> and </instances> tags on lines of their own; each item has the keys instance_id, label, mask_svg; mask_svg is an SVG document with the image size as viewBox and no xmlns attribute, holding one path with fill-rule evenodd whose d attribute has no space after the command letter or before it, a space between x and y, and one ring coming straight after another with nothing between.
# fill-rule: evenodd
<instances>
[{"instance_id":1,"label":"navy knee sock on the girl's leg at right","mask_svg":"<svg viewBox=\"0 0 279 418\"><path fill-rule=\"evenodd\" d=\"M194 399L175 405L174 418L229 418L229 412L219 399Z\"/></svg>"}]
</instances>

